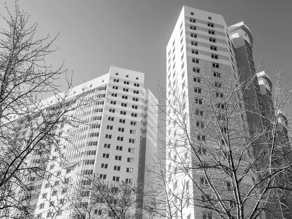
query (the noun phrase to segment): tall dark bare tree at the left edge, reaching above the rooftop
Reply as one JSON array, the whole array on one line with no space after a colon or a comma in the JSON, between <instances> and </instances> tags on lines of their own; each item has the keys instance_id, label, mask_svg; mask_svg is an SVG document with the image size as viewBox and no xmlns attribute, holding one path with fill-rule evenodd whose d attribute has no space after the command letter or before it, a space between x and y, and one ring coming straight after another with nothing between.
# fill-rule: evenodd
<instances>
[{"instance_id":1,"label":"tall dark bare tree at the left edge, reaching above the rooftop","mask_svg":"<svg viewBox=\"0 0 292 219\"><path fill-rule=\"evenodd\" d=\"M70 80L68 90L60 93L56 81L66 71L45 63L56 50L56 37L35 39L37 24L29 26L30 16L17 1L14 13L6 9L1 26L8 28L0 30L0 218L34 218L42 186L52 187L52 195L66 192L59 184L66 187L67 180L55 167L70 160L64 156L66 147L74 147L72 140L82 133L74 130L94 123L82 120L80 113L97 98L89 87L76 96ZM40 101L47 92L55 96ZM63 204L52 203L50 214L57 215Z\"/></svg>"}]
</instances>

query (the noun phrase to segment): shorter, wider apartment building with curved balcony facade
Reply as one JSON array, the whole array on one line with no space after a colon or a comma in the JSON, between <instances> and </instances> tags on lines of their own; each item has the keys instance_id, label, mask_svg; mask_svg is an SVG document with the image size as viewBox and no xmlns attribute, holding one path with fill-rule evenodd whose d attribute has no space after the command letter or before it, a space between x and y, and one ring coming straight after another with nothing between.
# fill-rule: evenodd
<instances>
[{"instance_id":1,"label":"shorter, wider apartment building with curved balcony facade","mask_svg":"<svg viewBox=\"0 0 292 219\"><path fill-rule=\"evenodd\" d=\"M144 170L151 164L157 150L158 117L153 113L157 111L153 104L156 102L155 96L144 88L144 73L110 67L109 73L73 87L64 104L81 94L96 101L73 110L68 116L85 123L78 126L65 124L57 128L61 137L58 144L64 144L62 153L67 162L61 164L58 161L60 151L50 147L49 156L52 158L46 165L49 173L46 179L49 178L50 182L39 176L26 179L35 182L36 195L30 204L38 218L51 218L53 214L60 219L74 216L72 209L64 203L68 201L65 199L68 196L66 191L56 193L52 189L68 182L66 179L76 184L81 175L94 174L109 182L139 184L142 192L144 182L148 180ZM43 113L52 113L57 102L57 96L42 100ZM23 138L32 127L27 126L26 122L23 118L13 121ZM70 140L72 144L63 142L62 136L66 133L73 136ZM36 153L27 162L34 165L40 159L42 154ZM54 205L64 205L64 209L55 212ZM107 218L108 214L97 210L96 216ZM142 214L142 211L137 211L137 214ZM76 218L82 217L77 214Z\"/></svg>"}]
</instances>

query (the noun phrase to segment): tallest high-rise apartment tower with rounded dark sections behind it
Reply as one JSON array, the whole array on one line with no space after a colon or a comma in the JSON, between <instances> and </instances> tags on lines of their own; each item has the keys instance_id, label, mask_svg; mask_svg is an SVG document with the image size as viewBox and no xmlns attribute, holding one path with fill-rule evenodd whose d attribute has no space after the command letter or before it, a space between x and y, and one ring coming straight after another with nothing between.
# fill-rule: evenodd
<instances>
[{"instance_id":1,"label":"tallest high-rise apartment tower with rounded dark sections behind it","mask_svg":"<svg viewBox=\"0 0 292 219\"><path fill-rule=\"evenodd\" d=\"M173 211L170 214L174 217L225 217L212 211L211 205L208 206L212 201L212 206L215 206L215 201L222 200L218 198L221 193L226 201L218 201L218 204L228 209L231 216L236 209L236 201L228 196L234 185L232 180L227 179L232 177L223 177L224 174L230 174L226 170L230 166L224 169L220 163L232 152L238 153L237 148L231 149L224 139L224 133L231 132L224 125L227 120L226 109L233 106L238 112L232 117L233 124L237 130L245 131L231 135L243 139L244 135L254 136L269 128L267 116L272 104L272 81L265 72L258 73L256 77L252 48L253 36L243 21L227 26L221 15L183 6L166 46L166 177L169 187L167 198L171 202L168 209L172 209L169 211ZM250 81L250 78L253 80ZM223 91L223 83L229 83L229 90ZM240 83L241 87L248 89L237 90L237 84ZM227 92L231 90L233 92L227 97ZM226 106L226 103L230 105ZM281 116L281 122L285 122L284 115ZM220 133L214 128L219 123ZM222 149L224 145L230 148L229 152ZM241 162L250 162L249 153L254 156L260 153L261 148L255 145L246 153L242 152L245 160ZM190 155L190 151L195 152ZM218 169L214 168L214 161L220 165ZM184 168L189 171L184 171ZM245 170L238 168L237 177L244 178L241 171ZM210 178L206 178L206 175ZM252 188L255 182L256 174L251 174L245 178L244 188L240 189ZM216 187L219 185L221 188ZM250 200L246 203L244 214L248 215L255 202ZM265 211L260 214L266 218L272 215L275 218L289 218L289 208L292 209L291 202L283 198L265 206Z\"/></svg>"}]
</instances>

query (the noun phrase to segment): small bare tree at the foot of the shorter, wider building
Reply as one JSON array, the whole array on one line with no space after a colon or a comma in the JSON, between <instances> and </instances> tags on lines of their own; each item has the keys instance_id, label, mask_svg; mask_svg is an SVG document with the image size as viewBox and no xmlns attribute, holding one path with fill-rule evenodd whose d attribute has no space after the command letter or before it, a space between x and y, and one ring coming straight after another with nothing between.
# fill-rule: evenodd
<instances>
[{"instance_id":1,"label":"small bare tree at the foot of the shorter, wider building","mask_svg":"<svg viewBox=\"0 0 292 219\"><path fill-rule=\"evenodd\" d=\"M80 176L73 187L69 208L72 218L135 219L137 187L126 182L110 183L102 176Z\"/></svg>"}]
</instances>

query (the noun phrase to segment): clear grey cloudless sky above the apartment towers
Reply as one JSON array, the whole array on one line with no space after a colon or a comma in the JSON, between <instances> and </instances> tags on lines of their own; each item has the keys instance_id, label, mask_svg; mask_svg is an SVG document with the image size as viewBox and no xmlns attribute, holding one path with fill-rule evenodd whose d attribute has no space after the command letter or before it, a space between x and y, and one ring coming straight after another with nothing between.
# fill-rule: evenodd
<instances>
[{"instance_id":1,"label":"clear grey cloudless sky above the apartment towers","mask_svg":"<svg viewBox=\"0 0 292 219\"><path fill-rule=\"evenodd\" d=\"M8 1L8 0L7 0ZM7 5L13 10L13 2ZM73 85L109 72L110 65L145 73L155 94L165 84L165 47L183 5L223 16L227 25L243 20L254 37L255 64L272 78L282 65L292 70L292 0L19 0L38 23L37 36L60 32L59 50L48 62L73 71ZM4 1L0 14L5 15ZM64 88L65 89L65 88Z\"/></svg>"}]
</instances>

